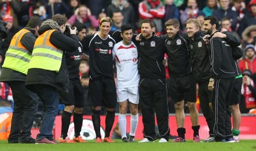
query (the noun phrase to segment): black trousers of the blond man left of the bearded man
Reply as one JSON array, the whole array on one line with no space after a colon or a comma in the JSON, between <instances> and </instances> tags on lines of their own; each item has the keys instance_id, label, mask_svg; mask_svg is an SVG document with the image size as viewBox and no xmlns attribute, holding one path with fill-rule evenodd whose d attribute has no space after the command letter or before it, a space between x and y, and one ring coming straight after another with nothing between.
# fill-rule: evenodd
<instances>
[{"instance_id":1,"label":"black trousers of the blond man left of the bearded man","mask_svg":"<svg viewBox=\"0 0 256 151\"><path fill-rule=\"evenodd\" d=\"M198 84L198 96L200 100L201 111L209 127L209 135L214 136L214 113L209 106L213 99L213 91L208 90L208 83Z\"/></svg>"}]
</instances>

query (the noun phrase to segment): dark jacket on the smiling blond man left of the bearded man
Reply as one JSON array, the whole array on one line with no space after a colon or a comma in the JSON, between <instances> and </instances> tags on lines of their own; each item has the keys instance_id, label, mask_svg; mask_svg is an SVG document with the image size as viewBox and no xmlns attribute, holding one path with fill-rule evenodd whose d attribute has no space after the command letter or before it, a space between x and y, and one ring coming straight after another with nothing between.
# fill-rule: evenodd
<instances>
[{"instance_id":1,"label":"dark jacket on the smiling blond man left of the bearded man","mask_svg":"<svg viewBox=\"0 0 256 151\"><path fill-rule=\"evenodd\" d=\"M192 73L196 82L208 83L210 78L210 58L208 46L204 43L204 31L194 34L194 39L189 43L190 61L192 63Z\"/></svg>"}]
</instances>

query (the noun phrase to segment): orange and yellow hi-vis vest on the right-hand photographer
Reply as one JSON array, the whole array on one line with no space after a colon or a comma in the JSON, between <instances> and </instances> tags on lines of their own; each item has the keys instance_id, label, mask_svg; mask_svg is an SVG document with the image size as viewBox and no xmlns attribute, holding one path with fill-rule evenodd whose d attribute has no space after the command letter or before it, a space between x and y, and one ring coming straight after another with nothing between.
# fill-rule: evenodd
<instances>
[{"instance_id":1,"label":"orange and yellow hi-vis vest on the right-hand photographer","mask_svg":"<svg viewBox=\"0 0 256 151\"><path fill-rule=\"evenodd\" d=\"M29 69L41 68L59 72L63 51L56 48L50 42L51 34L54 31L56 30L48 30L36 39Z\"/></svg>"}]
</instances>

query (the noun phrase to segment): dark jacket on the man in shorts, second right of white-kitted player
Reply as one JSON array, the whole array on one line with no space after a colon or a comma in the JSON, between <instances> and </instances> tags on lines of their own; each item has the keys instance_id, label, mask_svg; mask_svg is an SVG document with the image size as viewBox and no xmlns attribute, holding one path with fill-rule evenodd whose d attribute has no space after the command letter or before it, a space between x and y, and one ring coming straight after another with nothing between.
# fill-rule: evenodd
<instances>
[{"instance_id":1,"label":"dark jacket on the man in shorts, second right of white-kitted player","mask_svg":"<svg viewBox=\"0 0 256 151\"><path fill-rule=\"evenodd\" d=\"M171 39L166 35L165 47L168 55L168 71L171 77L183 77L192 73L189 60L189 39L186 33L178 31Z\"/></svg>"}]
</instances>

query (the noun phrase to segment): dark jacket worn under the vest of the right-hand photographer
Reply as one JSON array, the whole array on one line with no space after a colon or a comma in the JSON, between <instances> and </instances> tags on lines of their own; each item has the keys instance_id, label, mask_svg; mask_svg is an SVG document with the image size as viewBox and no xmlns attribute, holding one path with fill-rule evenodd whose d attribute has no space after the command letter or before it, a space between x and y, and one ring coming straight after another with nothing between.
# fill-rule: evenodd
<instances>
[{"instance_id":1,"label":"dark jacket worn under the vest of the right-hand photographer","mask_svg":"<svg viewBox=\"0 0 256 151\"><path fill-rule=\"evenodd\" d=\"M50 26L44 25L39 28L38 32L41 35L43 32L51 29L52 28ZM50 42L58 49L73 52L78 48L79 38L75 34L71 34L69 38L60 31L55 31L51 34ZM61 68L59 69L59 72L40 68L30 68L26 77L26 88L30 89L31 91L34 90L34 85L46 84L59 90L68 92L68 83L69 76L65 53L63 53L62 56Z\"/></svg>"}]
</instances>

